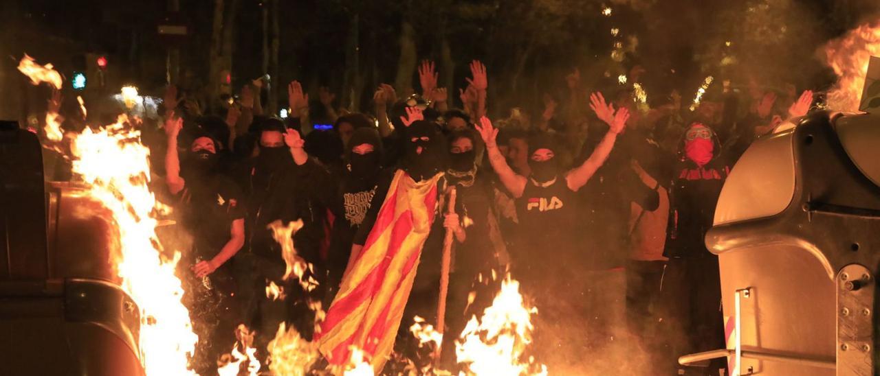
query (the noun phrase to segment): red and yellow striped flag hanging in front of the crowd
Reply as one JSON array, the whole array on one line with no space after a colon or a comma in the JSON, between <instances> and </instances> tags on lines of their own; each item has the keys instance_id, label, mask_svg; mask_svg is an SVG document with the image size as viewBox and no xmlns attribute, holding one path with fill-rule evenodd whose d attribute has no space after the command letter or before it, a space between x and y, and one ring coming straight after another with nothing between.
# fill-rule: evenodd
<instances>
[{"instance_id":1,"label":"red and yellow striped flag hanging in front of the crowd","mask_svg":"<svg viewBox=\"0 0 880 376\"><path fill-rule=\"evenodd\" d=\"M385 365L434 221L442 176L415 182L403 170L395 173L376 224L321 325L319 349L331 364L347 362L354 346L377 373Z\"/></svg>"}]
</instances>

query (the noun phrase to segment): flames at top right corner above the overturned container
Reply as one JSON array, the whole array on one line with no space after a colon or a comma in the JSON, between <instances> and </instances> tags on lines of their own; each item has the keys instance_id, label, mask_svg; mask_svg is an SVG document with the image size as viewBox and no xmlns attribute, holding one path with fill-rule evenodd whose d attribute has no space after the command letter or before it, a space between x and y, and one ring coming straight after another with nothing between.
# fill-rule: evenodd
<instances>
[{"instance_id":1,"label":"flames at top right corner above the overturned container","mask_svg":"<svg viewBox=\"0 0 880 376\"><path fill-rule=\"evenodd\" d=\"M862 86L870 57L880 56L880 24L861 25L825 45L825 58L840 77L828 91L827 104L834 110L859 110Z\"/></svg>"}]
</instances>

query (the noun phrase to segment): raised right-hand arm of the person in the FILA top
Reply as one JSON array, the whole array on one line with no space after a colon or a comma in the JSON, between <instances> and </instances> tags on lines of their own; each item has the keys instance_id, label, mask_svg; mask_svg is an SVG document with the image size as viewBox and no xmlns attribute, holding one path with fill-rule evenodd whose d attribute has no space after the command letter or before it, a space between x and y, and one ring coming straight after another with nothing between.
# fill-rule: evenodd
<instances>
[{"instance_id":1,"label":"raised right-hand arm of the person in the FILA top","mask_svg":"<svg viewBox=\"0 0 880 376\"><path fill-rule=\"evenodd\" d=\"M613 113L613 107L605 105L605 98L595 93L590 96L590 108L596 112L599 119L603 119L608 123L608 133L605 134L602 141L599 141L598 146L593 150L593 154L586 161L583 161L583 164L568 171L565 180L568 184L568 189L572 191L580 190L583 185L590 181L590 177L593 177L593 174L602 166L602 163L605 163L608 155L611 154L611 149L614 148L614 141L617 140L617 135L623 131L623 128L627 125L627 119L629 119L629 111L626 108L621 108L617 113L614 113L611 121L606 120L608 113Z\"/></svg>"}]
</instances>

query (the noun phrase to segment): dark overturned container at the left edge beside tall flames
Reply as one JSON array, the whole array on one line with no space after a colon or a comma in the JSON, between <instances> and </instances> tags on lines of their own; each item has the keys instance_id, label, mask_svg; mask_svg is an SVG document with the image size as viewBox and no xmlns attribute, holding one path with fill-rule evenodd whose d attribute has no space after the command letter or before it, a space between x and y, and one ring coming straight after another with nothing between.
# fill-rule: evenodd
<instances>
[{"instance_id":1,"label":"dark overturned container at the left edge beside tall flames","mask_svg":"<svg viewBox=\"0 0 880 376\"><path fill-rule=\"evenodd\" d=\"M0 373L143 375L112 217L42 171L36 135L0 123Z\"/></svg>"}]
</instances>

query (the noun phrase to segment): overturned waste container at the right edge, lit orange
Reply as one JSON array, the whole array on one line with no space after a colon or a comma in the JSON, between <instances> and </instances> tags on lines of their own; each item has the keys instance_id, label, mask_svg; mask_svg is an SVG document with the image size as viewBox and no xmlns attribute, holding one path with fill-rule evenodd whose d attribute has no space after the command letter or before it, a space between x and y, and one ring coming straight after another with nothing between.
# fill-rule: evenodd
<instances>
[{"instance_id":1,"label":"overturned waste container at the right edge, lit orange","mask_svg":"<svg viewBox=\"0 0 880 376\"><path fill-rule=\"evenodd\" d=\"M706 245L718 255L731 374L876 374L880 116L817 112L755 141Z\"/></svg>"}]
</instances>

